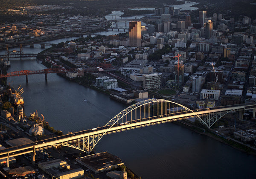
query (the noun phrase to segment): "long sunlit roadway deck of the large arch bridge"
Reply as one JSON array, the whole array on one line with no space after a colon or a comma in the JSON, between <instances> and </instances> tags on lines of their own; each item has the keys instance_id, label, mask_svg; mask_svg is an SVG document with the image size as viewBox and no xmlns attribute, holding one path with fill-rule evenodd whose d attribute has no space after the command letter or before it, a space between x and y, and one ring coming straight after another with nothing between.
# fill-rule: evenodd
<instances>
[{"instance_id":1,"label":"long sunlit roadway deck of the large arch bridge","mask_svg":"<svg viewBox=\"0 0 256 179\"><path fill-rule=\"evenodd\" d=\"M67 134L64 136L58 136L51 139L35 141L29 144L24 144L16 147L3 149L3 150L0 150L0 159L15 157L15 156L23 155L26 153L35 153L36 151L44 150L44 149L55 147L58 145L67 146L67 144L70 144L70 143L73 143L74 145L75 142L81 141L83 139L91 139L91 138L94 138L95 136L102 136L105 134L111 134L111 133L121 132L124 130L130 130L130 129L150 126L154 124L161 124L161 123L170 122L170 121L178 121L186 118L201 117L207 113L218 113L218 112L239 111L239 110L244 111L244 110L251 110L251 109L253 109L253 112L254 112L253 115L255 116L256 104L248 103L248 104L236 104L236 105L230 105L230 106L176 112L176 113L170 113L167 115L165 114L165 115L127 121L125 123L106 125L103 127L97 127L97 128L84 130L84 131L80 131L72 134ZM80 150L83 150L83 151L84 149L85 149L84 146L80 148Z\"/></svg>"}]
</instances>

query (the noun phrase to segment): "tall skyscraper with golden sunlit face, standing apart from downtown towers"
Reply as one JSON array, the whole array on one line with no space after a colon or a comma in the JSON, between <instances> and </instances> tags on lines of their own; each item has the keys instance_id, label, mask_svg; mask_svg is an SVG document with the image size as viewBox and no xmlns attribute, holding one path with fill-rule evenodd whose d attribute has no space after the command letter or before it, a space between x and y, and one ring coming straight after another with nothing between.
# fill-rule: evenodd
<instances>
[{"instance_id":1,"label":"tall skyscraper with golden sunlit face, standing apart from downtown towers","mask_svg":"<svg viewBox=\"0 0 256 179\"><path fill-rule=\"evenodd\" d=\"M131 21L129 23L129 41L130 46L141 46L141 22Z\"/></svg>"}]
</instances>

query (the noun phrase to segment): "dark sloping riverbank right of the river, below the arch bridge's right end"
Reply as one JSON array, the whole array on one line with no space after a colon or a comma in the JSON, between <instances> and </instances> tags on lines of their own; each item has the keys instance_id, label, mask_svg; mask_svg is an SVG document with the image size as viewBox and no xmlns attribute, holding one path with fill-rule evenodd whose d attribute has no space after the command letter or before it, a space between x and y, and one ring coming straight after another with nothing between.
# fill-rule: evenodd
<instances>
[{"instance_id":1,"label":"dark sloping riverbank right of the river, below the arch bridge's right end","mask_svg":"<svg viewBox=\"0 0 256 179\"><path fill-rule=\"evenodd\" d=\"M198 133L199 135L205 135L208 136L212 139L215 139L217 141L220 141L221 143L227 144L230 147L235 148L236 150L240 150L244 153L250 154L250 155L256 155L256 150L254 150L251 147L246 146L245 144L241 144L236 142L235 140L230 140L230 139L224 139L221 136L216 135L215 133L212 133L211 131L207 131L205 130L205 132L203 131L202 128L194 126L192 124L189 124L189 122L186 121L174 121L175 124L186 127L187 129L190 129L196 133Z\"/></svg>"}]
</instances>

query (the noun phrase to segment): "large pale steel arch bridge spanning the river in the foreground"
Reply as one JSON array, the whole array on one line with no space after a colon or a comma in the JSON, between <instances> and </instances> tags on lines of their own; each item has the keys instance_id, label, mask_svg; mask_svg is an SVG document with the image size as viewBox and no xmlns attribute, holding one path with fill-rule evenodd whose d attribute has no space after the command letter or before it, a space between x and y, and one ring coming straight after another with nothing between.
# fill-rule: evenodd
<instances>
[{"instance_id":1,"label":"large pale steel arch bridge spanning the river in the foreground","mask_svg":"<svg viewBox=\"0 0 256 179\"><path fill-rule=\"evenodd\" d=\"M243 114L244 110L253 110L253 117L255 117L256 103L190 110L173 101L152 98L127 107L108 121L105 126L0 150L0 159L7 158L7 165L9 165L9 157L32 153L32 163L35 164L37 151L57 146L73 147L90 153L106 134L187 118L197 118L210 128L227 113L239 111Z\"/></svg>"}]
</instances>

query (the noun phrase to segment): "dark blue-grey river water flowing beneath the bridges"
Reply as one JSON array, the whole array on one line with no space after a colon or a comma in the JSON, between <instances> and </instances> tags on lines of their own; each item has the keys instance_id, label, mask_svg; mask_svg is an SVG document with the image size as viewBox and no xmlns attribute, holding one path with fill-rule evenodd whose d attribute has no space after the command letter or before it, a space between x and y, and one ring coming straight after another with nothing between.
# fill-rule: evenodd
<instances>
[{"instance_id":1,"label":"dark blue-grey river water flowing beneath the bridges","mask_svg":"<svg viewBox=\"0 0 256 179\"><path fill-rule=\"evenodd\" d=\"M67 39L59 40L66 41ZM40 48L40 47L39 47ZM24 48L24 53L41 49ZM36 60L11 61L8 72L46 67ZM105 125L125 109L108 95L68 81L56 74L10 77L7 82L24 89L26 115L38 110L55 129L64 133ZM104 136L96 152L119 156L143 179L255 178L256 156L199 135L173 123L143 127Z\"/></svg>"}]
</instances>

